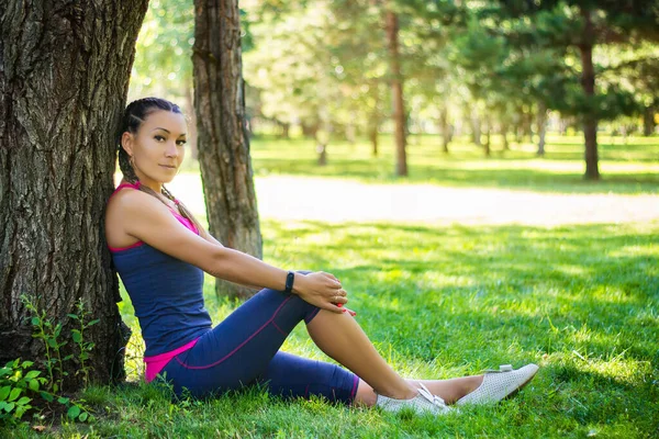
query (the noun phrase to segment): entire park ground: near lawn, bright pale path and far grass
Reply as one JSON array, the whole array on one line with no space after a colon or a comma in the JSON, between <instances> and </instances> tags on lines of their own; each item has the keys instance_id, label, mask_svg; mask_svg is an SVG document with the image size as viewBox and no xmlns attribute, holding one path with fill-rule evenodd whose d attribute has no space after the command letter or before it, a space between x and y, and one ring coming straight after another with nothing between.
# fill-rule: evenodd
<instances>
[{"instance_id":1,"label":"entire park ground: near lawn, bright pale path and far grass","mask_svg":"<svg viewBox=\"0 0 659 439\"><path fill-rule=\"evenodd\" d=\"M440 418L282 402L255 389L174 403L167 389L139 381L143 347L125 297L131 382L88 389L96 419L49 435L657 437L659 139L602 139L596 183L581 179L578 138L550 138L545 158L533 145L513 148L485 159L457 144L444 156L437 138L413 138L401 181L387 140L377 159L366 143L331 146L325 168L304 140L253 140L266 261L339 277L359 323L403 375L538 363L514 398ZM171 190L203 214L193 170ZM205 295L215 322L237 306L216 297L210 279ZM302 326L283 349L327 360Z\"/></svg>"}]
</instances>

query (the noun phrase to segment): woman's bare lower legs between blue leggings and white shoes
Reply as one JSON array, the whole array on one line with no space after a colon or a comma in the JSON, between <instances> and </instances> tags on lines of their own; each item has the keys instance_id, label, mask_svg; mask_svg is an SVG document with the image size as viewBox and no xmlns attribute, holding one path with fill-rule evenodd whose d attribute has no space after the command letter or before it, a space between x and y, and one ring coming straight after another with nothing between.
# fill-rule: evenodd
<instances>
[{"instance_id":1,"label":"woman's bare lower legs between blue leggings and white shoes","mask_svg":"<svg viewBox=\"0 0 659 439\"><path fill-rule=\"evenodd\" d=\"M375 392L396 399L416 396L420 381L404 380L399 376L378 353L357 322L347 313L336 314L321 309L306 328L323 352L362 380L357 389L356 403L373 405ZM433 394L451 403L478 387L482 376L421 382Z\"/></svg>"}]
</instances>

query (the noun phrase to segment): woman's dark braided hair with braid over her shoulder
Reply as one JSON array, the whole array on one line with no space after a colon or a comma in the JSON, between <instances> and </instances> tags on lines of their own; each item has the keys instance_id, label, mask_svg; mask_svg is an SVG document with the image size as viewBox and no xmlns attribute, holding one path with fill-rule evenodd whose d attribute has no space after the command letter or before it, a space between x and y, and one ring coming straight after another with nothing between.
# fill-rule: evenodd
<instances>
[{"instance_id":1,"label":"woman's dark braided hair with braid over her shoulder","mask_svg":"<svg viewBox=\"0 0 659 439\"><path fill-rule=\"evenodd\" d=\"M124 114L121 120L121 130L119 131L118 138L119 168L121 169L124 179L133 184L137 183L139 179L137 178L137 175L133 169L133 165L131 165L131 156L129 156L129 153L126 153L126 150L121 144L121 138L126 132L131 134L137 134L144 121L146 121L149 114L155 113L156 111L170 111L172 113L183 114L183 112L177 104L169 102L165 99L143 98L131 102L124 110ZM163 199L160 199L153 189L144 184L139 184L139 190L163 201ZM194 216L192 216L188 207L186 207L183 203L179 202L171 194L171 192L169 192L167 188L165 188L164 184L163 189L160 190L160 193L167 199L171 200L176 205L178 205L181 216L190 219L194 224L194 226L197 226L197 229L201 230L201 225L194 218ZM163 203L165 203L165 201L163 201Z\"/></svg>"}]
</instances>

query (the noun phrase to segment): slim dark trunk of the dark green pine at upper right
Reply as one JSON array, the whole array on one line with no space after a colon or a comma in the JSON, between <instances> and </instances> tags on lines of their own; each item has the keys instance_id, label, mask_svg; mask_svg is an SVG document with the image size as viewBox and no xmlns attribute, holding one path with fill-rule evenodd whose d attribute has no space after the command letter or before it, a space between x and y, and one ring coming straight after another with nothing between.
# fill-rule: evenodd
<instances>
[{"instance_id":1,"label":"slim dark trunk of the dark green pine at upper right","mask_svg":"<svg viewBox=\"0 0 659 439\"><path fill-rule=\"evenodd\" d=\"M579 45L581 50L581 86L589 102L593 102L595 94L595 69L593 67L593 38L594 30L591 20L591 11L581 8L581 18L583 19L583 41ZM600 170L597 168L597 119L593 110L587 110L583 115L583 136L585 140L585 175L588 180L599 180Z\"/></svg>"}]
</instances>

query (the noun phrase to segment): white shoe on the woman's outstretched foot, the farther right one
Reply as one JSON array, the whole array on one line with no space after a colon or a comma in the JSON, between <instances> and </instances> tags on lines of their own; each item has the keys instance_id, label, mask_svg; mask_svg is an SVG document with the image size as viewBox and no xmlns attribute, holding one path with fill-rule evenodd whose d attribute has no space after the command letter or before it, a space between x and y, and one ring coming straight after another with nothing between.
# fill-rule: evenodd
<instances>
[{"instance_id":1,"label":"white shoe on the woman's outstretched foot, the farther right one","mask_svg":"<svg viewBox=\"0 0 659 439\"><path fill-rule=\"evenodd\" d=\"M524 387L538 371L536 364L526 364L513 370L511 364L503 364L498 371L488 371L483 382L477 390L457 401L457 405L491 404L503 399L513 392Z\"/></svg>"}]
</instances>

